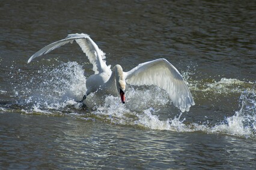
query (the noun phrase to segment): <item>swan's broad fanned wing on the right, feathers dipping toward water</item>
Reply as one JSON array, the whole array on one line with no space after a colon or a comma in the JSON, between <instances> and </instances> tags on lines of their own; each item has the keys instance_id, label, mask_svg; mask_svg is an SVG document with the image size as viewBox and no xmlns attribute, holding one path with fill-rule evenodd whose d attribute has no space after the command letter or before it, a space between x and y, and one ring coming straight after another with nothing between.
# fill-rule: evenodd
<instances>
[{"instance_id":1,"label":"swan's broad fanned wing on the right, feathers dipping toward water","mask_svg":"<svg viewBox=\"0 0 256 170\"><path fill-rule=\"evenodd\" d=\"M141 63L132 70L124 72L124 78L132 85L155 85L166 90L174 106L182 112L189 111L191 105L195 105L180 72L166 59Z\"/></svg>"}]
</instances>

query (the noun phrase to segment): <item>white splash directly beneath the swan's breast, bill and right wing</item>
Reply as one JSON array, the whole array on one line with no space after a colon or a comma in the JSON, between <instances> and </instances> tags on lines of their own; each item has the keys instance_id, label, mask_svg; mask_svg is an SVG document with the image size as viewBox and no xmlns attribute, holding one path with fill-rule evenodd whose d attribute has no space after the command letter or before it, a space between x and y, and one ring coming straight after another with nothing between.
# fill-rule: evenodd
<instances>
[{"instance_id":1,"label":"white splash directly beneath the swan's breast, bill and right wing","mask_svg":"<svg viewBox=\"0 0 256 170\"><path fill-rule=\"evenodd\" d=\"M138 125L138 113L148 107L160 109L169 102L168 95L159 88L149 87L147 90L136 90L130 87L126 92L126 104L122 104L120 96L88 96L86 104L93 107L93 114L106 117L111 123L120 125Z\"/></svg>"}]
</instances>

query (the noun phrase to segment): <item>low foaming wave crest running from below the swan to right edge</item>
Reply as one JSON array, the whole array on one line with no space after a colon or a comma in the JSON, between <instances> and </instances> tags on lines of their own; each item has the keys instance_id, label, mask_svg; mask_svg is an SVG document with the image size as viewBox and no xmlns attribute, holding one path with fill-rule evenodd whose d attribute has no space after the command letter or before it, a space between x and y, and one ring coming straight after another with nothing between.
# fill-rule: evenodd
<instances>
[{"instance_id":1,"label":"low foaming wave crest running from below the swan to right edge","mask_svg":"<svg viewBox=\"0 0 256 170\"><path fill-rule=\"evenodd\" d=\"M159 114L161 112L153 107L147 108L140 113L137 111L131 112L129 108L123 107L117 102L113 103L112 96L106 99L105 105L97 108L94 114L108 116L107 119L111 123L121 125L138 125L149 129L172 130L175 132L223 133L256 139L255 93L244 92L240 96L240 102L240 110L235 111L234 116L225 117L224 120L215 125L210 125L208 122L201 124L186 122L186 117L181 119L182 113L173 119L160 120Z\"/></svg>"}]
</instances>

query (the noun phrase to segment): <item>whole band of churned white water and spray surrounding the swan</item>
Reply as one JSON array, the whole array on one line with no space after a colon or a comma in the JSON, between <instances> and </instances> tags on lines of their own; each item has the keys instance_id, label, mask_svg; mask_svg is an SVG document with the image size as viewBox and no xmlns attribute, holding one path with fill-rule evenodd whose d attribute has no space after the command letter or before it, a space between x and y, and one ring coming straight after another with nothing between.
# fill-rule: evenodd
<instances>
[{"instance_id":1,"label":"whole band of churned white water and spray surrounding the swan","mask_svg":"<svg viewBox=\"0 0 256 170\"><path fill-rule=\"evenodd\" d=\"M132 125L155 130L175 132L224 133L244 138L256 139L256 93L255 83L232 78L219 81L193 81L188 72L184 77L192 93L237 93L239 110L217 123L187 118L171 105L164 90L149 87L128 86L126 104L121 104L117 96L88 96L87 107L80 101L86 91L84 69L77 62L61 63L59 66L43 66L32 73L23 72L16 84L13 103L0 105L0 112L19 111L25 114L65 115L76 119L99 120L118 125ZM11 75L16 77L17 75ZM24 81L26 80L26 81ZM1 91L1 93L6 93ZM193 108L192 108L193 110ZM189 114L189 113L188 113ZM204 114L203 111L200 114Z\"/></svg>"}]
</instances>

